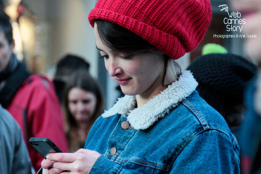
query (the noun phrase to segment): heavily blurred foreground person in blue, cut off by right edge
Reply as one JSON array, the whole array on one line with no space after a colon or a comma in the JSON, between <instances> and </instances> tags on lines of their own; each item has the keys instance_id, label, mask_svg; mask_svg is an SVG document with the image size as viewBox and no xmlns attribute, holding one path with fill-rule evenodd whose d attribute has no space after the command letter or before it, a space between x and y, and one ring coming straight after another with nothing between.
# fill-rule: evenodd
<instances>
[{"instance_id":1,"label":"heavily blurred foreground person in blue, cut off by right edge","mask_svg":"<svg viewBox=\"0 0 261 174\"><path fill-rule=\"evenodd\" d=\"M247 113L242 124L241 152L244 155L245 173L261 173L261 1L232 0L233 7L243 13L246 23L244 34L256 35L246 38L244 51L258 65L258 74L253 78L246 95Z\"/></svg>"}]
</instances>

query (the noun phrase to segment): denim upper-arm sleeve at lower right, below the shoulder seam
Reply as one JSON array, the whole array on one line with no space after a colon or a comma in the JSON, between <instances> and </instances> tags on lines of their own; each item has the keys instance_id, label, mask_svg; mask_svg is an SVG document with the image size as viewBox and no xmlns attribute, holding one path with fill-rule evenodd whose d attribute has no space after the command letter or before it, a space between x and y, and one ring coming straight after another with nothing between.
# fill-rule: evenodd
<instances>
[{"instance_id":1,"label":"denim upper-arm sleeve at lower right, below the shoulder seam","mask_svg":"<svg viewBox=\"0 0 261 174\"><path fill-rule=\"evenodd\" d=\"M233 142L234 141L234 142ZM174 159L174 173L239 173L239 146L218 130L195 136Z\"/></svg>"}]
</instances>

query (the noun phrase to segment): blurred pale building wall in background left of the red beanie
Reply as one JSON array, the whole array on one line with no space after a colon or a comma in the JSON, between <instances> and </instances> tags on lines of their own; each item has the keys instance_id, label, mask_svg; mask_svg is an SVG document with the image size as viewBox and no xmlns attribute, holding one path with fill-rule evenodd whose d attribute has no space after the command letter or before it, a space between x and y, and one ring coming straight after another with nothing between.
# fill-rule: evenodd
<instances>
[{"instance_id":1,"label":"blurred pale building wall in background left of the red beanie","mask_svg":"<svg viewBox=\"0 0 261 174\"><path fill-rule=\"evenodd\" d=\"M96 0L23 0L37 16L36 55L46 60L51 76L59 58L67 53L84 57L90 63L90 74L98 78L98 52L88 14Z\"/></svg>"}]
</instances>

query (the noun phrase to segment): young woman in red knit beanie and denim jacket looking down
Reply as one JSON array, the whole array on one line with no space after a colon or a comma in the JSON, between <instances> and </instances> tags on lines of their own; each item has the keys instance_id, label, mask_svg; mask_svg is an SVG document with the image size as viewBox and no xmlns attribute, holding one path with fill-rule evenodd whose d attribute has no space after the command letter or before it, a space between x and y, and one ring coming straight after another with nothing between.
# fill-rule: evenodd
<instances>
[{"instance_id":1,"label":"young woman in red knit beanie and denim jacket looking down","mask_svg":"<svg viewBox=\"0 0 261 174\"><path fill-rule=\"evenodd\" d=\"M173 60L198 45L210 20L209 0L99 0L89 21L126 95L97 119L84 149L49 154L43 172L239 173L236 138Z\"/></svg>"}]
</instances>

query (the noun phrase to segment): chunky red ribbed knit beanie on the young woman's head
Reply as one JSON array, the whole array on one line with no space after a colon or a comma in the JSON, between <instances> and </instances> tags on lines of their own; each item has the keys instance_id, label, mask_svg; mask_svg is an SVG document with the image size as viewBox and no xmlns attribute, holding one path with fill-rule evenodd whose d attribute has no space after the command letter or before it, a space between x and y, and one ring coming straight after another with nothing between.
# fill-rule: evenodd
<instances>
[{"instance_id":1,"label":"chunky red ribbed knit beanie on the young woman's head","mask_svg":"<svg viewBox=\"0 0 261 174\"><path fill-rule=\"evenodd\" d=\"M127 28L172 59L198 46L211 20L209 0L98 0L89 22L103 19Z\"/></svg>"}]
</instances>

